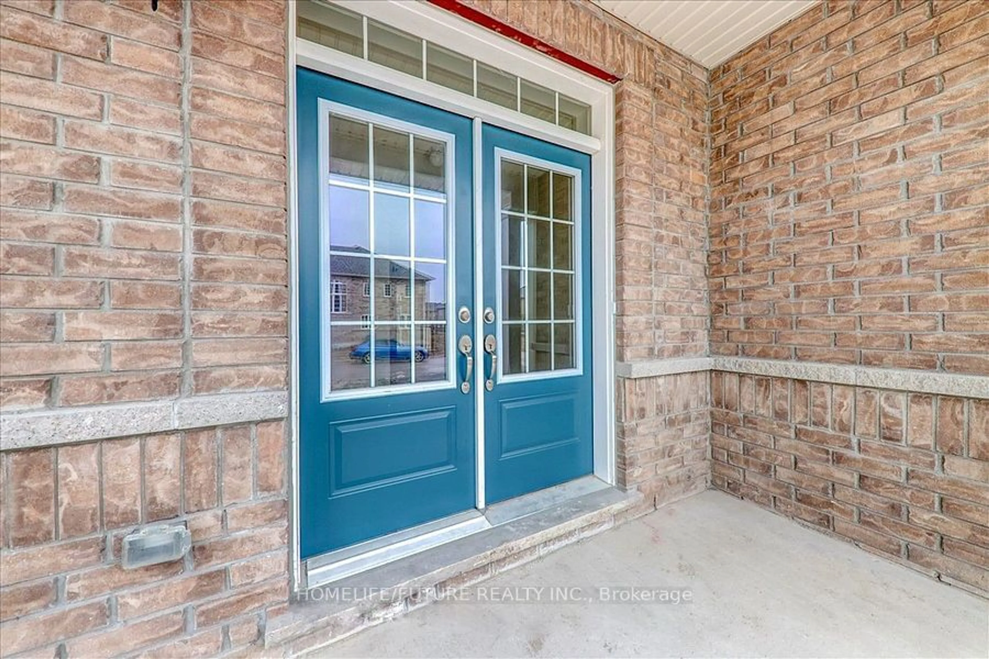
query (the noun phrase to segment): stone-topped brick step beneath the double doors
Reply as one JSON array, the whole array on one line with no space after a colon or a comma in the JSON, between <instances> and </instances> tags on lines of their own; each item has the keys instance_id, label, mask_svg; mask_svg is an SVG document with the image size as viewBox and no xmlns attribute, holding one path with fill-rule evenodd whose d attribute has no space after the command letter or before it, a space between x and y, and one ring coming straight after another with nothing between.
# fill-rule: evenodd
<instances>
[{"instance_id":1,"label":"stone-topped brick step beneath the double doors","mask_svg":"<svg viewBox=\"0 0 989 659\"><path fill-rule=\"evenodd\" d=\"M268 621L263 656L299 656L653 510L606 487L305 593Z\"/></svg>"}]
</instances>

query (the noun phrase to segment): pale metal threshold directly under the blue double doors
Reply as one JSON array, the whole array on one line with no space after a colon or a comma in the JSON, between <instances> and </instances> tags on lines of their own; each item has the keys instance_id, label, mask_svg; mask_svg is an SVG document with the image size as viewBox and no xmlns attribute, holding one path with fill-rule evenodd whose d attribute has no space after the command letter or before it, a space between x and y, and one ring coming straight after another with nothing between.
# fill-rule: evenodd
<instances>
[{"instance_id":1,"label":"pale metal threshold directly under the blue double doors","mask_svg":"<svg viewBox=\"0 0 989 659\"><path fill-rule=\"evenodd\" d=\"M610 485L596 476L586 475L496 503L483 512L471 510L457 513L394 534L334 549L306 560L307 587L325 586L609 488Z\"/></svg>"}]
</instances>

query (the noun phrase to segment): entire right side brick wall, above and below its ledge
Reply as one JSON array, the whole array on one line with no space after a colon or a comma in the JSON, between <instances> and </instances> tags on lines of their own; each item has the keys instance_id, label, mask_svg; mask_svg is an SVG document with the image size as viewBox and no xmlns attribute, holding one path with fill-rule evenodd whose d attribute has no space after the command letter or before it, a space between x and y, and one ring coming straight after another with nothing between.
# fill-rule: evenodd
<instances>
[{"instance_id":1,"label":"entire right side brick wall, above and below its ledge","mask_svg":"<svg viewBox=\"0 0 989 659\"><path fill-rule=\"evenodd\" d=\"M989 403L890 369L989 375L987 52L985 3L828 2L715 68L708 270L712 355L892 387L713 372L714 486L982 594Z\"/></svg>"}]
</instances>

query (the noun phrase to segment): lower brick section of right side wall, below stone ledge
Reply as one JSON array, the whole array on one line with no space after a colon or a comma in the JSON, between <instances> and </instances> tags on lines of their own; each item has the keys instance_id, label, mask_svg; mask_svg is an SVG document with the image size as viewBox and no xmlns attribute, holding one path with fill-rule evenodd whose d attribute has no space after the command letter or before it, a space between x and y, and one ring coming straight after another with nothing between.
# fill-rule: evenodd
<instances>
[{"instance_id":1,"label":"lower brick section of right side wall, below stone ledge","mask_svg":"<svg viewBox=\"0 0 989 659\"><path fill-rule=\"evenodd\" d=\"M711 374L715 487L989 593L989 400Z\"/></svg>"}]
</instances>

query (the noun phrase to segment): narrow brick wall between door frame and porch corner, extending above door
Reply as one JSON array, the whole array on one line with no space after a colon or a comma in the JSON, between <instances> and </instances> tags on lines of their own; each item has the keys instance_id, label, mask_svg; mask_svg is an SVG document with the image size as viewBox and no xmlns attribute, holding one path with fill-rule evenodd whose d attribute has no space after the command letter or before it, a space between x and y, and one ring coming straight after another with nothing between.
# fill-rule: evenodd
<instances>
[{"instance_id":1,"label":"narrow brick wall between door frame and porch corner, extending above door","mask_svg":"<svg viewBox=\"0 0 989 659\"><path fill-rule=\"evenodd\" d=\"M706 69L587 0L466 4L622 78L615 94L615 357L633 364L706 355ZM682 401L667 383L616 382L619 396L648 389L652 407L643 413L664 420L650 426L617 405L619 481L662 501L705 487L709 477L705 456L692 450L698 422L679 413ZM706 378L694 384L706 399ZM647 427L652 439L626 444Z\"/></svg>"}]
</instances>

